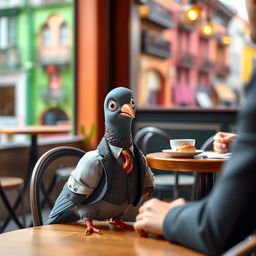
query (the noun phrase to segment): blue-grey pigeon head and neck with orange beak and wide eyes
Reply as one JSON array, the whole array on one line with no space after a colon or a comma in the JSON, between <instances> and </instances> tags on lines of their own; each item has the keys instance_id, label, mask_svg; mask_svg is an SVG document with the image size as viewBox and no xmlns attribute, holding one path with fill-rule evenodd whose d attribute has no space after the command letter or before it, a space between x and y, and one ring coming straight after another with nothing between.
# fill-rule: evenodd
<instances>
[{"instance_id":1,"label":"blue-grey pigeon head and neck with orange beak and wide eyes","mask_svg":"<svg viewBox=\"0 0 256 256\"><path fill-rule=\"evenodd\" d=\"M132 143L131 125L135 118L135 101L132 91L117 87L110 91L104 101L105 135L107 141L127 148Z\"/></svg>"}]
</instances>

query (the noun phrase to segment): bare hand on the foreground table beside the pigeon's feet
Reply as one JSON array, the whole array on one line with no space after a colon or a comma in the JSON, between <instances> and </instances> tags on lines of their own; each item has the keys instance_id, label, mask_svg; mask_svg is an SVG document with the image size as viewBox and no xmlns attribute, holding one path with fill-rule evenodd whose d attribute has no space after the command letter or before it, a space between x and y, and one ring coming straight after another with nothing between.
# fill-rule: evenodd
<instances>
[{"instance_id":1,"label":"bare hand on the foreground table beside the pigeon's feet","mask_svg":"<svg viewBox=\"0 0 256 256\"><path fill-rule=\"evenodd\" d=\"M135 231L146 236L148 233L163 235L163 223L166 214L176 206L185 204L183 198L170 203L153 198L146 201L140 208L134 224Z\"/></svg>"}]
</instances>

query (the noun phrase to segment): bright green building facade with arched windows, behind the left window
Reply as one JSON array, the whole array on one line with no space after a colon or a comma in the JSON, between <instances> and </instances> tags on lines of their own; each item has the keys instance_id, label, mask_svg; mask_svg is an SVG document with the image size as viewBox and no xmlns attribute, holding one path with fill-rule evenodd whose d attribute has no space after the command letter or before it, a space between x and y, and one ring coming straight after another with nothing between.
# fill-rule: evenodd
<instances>
[{"instance_id":1,"label":"bright green building facade with arched windows, behind the left window","mask_svg":"<svg viewBox=\"0 0 256 256\"><path fill-rule=\"evenodd\" d=\"M73 1L1 1L0 8L0 97L12 105L1 125L72 123Z\"/></svg>"}]
</instances>

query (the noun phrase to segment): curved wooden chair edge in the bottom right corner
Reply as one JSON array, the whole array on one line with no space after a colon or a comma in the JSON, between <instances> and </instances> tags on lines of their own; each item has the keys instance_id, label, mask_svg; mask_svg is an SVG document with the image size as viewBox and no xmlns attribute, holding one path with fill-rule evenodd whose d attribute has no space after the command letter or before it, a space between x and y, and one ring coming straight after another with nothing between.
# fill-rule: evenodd
<instances>
[{"instance_id":1,"label":"curved wooden chair edge in the bottom right corner","mask_svg":"<svg viewBox=\"0 0 256 256\"><path fill-rule=\"evenodd\" d=\"M254 253L254 254L252 254ZM256 253L256 234L233 246L223 256L248 256Z\"/></svg>"}]
</instances>

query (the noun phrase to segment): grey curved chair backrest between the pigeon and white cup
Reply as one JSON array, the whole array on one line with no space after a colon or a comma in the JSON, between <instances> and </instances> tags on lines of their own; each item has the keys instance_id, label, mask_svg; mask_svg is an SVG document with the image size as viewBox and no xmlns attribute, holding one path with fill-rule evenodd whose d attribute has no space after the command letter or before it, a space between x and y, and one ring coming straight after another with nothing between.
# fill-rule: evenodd
<instances>
[{"instance_id":1,"label":"grey curved chair backrest between the pigeon and white cup","mask_svg":"<svg viewBox=\"0 0 256 256\"><path fill-rule=\"evenodd\" d=\"M134 143L140 148L140 150L144 154L150 153L149 141L153 136L162 138L169 145L169 140L171 139L171 136L164 130L152 126L140 129L134 136Z\"/></svg>"}]
</instances>

